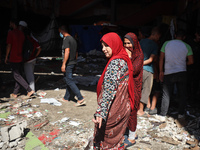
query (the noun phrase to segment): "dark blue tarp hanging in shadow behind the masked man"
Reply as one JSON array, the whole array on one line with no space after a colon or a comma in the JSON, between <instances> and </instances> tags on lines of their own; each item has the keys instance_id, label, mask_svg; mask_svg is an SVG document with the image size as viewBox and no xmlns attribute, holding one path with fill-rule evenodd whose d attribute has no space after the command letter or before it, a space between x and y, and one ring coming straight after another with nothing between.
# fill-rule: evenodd
<instances>
[{"instance_id":1,"label":"dark blue tarp hanging in shadow behind the masked man","mask_svg":"<svg viewBox=\"0 0 200 150\"><path fill-rule=\"evenodd\" d=\"M101 50L100 39L102 26L93 25L71 25L71 35L78 34L78 52L87 53L90 50Z\"/></svg>"}]
</instances>

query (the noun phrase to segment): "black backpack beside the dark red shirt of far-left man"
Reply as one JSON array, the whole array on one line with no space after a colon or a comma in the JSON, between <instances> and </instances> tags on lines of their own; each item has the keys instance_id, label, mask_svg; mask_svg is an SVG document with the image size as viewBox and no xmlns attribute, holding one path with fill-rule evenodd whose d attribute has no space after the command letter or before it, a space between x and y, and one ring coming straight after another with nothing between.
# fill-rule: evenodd
<instances>
[{"instance_id":1,"label":"black backpack beside the dark red shirt of far-left man","mask_svg":"<svg viewBox=\"0 0 200 150\"><path fill-rule=\"evenodd\" d=\"M30 59L31 54L33 53L34 45L33 42L29 40L27 36L25 36L24 44L23 44L23 60L27 61Z\"/></svg>"}]
</instances>

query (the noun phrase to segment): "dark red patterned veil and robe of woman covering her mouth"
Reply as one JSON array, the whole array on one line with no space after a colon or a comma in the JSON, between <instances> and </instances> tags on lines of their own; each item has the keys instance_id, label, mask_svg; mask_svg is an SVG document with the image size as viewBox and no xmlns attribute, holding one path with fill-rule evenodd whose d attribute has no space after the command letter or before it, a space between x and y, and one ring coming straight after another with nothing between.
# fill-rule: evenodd
<instances>
[{"instance_id":1,"label":"dark red patterned veil and robe of woman covering her mouth","mask_svg":"<svg viewBox=\"0 0 200 150\"><path fill-rule=\"evenodd\" d=\"M138 38L134 33L127 33L125 35L125 38L129 39L129 41L134 45L133 49L130 50L132 51L131 61L133 64L135 105L134 109L131 111L128 123L129 130L134 132L137 126L137 111L139 109L139 103L141 99L144 54L142 52Z\"/></svg>"}]
</instances>

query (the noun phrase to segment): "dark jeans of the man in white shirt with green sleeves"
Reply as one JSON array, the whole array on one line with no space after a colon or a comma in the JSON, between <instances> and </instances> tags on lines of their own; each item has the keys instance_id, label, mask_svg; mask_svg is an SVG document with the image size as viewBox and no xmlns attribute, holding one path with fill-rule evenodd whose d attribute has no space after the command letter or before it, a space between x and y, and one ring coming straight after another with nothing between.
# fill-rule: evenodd
<instances>
[{"instance_id":1,"label":"dark jeans of the man in white shirt with green sleeves","mask_svg":"<svg viewBox=\"0 0 200 150\"><path fill-rule=\"evenodd\" d=\"M163 82L163 95L161 103L162 116L166 116L169 108L170 97L172 96L174 85L177 87L177 94L179 97L179 108L178 113L183 115L186 106L186 96L187 96L187 75L186 72L178 72L170 75L164 76Z\"/></svg>"}]
</instances>

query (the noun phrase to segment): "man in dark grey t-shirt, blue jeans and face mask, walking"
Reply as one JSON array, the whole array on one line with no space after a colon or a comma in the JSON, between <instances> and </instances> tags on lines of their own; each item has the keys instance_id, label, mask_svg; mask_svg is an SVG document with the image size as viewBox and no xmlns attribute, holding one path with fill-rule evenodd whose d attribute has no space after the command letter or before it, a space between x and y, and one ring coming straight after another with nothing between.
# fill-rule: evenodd
<instances>
[{"instance_id":1,"label":"man in dark grey t-shirt, blue jeans and face mask, walking","mask_svg":"<svg viewBox=\"0 0 200 150\"><path fill-rule=\"evenodd\" d=\"M72 78L72 71L76 65L77 43L76 40L68 33L64 25L59 27L59 32L60 32L60 37L63 38L63 44L62 44L63 63L61 66L61 71L65 73L64 79L67 84L65 96L60 100L63 102L67 102L70 98L70 90L71 90L78 98L76 106L81 106L85 104L85 101L80 93L80 90L78 89Z\"/></svg>"}]
</instances>

